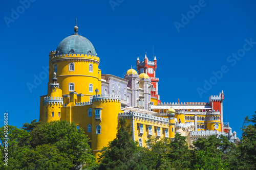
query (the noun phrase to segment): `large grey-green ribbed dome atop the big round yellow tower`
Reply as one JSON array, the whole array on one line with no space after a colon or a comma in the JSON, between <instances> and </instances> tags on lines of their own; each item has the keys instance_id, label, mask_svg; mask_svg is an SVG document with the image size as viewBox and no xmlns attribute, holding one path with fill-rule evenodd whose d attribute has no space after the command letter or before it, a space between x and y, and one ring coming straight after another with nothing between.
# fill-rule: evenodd
<instances>
[{"instance_id":1,"label":"large grey-green ribbed dome atop the big round yellow tower","mask_svg":"<svg viewBox=\"0 0 256 170\"><path fill-rule=\"evenodd\" d=\"M64 38L56 49L56 55L83 54L96 56L96 51L89 39L78 35L78 27L74 27L74 34Z\"/></svg>"}]
</instances>

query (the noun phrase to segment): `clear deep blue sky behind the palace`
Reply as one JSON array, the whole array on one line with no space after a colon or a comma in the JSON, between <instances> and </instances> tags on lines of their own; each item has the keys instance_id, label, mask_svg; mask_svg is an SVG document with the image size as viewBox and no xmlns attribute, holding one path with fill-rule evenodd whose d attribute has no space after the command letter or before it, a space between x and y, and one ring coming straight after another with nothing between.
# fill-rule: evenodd
<instances>
[{"instance_id":1,"label":"clear deep blue sky behind the palace","mask_svg":"<svg viewBox=\"0 0 256 170\"><path fill-rule=\"evenodd\" d=\"M10 125L39 119L49 52L73 34L76 17L78 33L100 57L102 74L123 77L137 56L147 52L153 60L154 45L163 102L208 102L223 90L224 122L239 137L244 117L256 110L255 1L4 0L0 10L0 109L2 117L9 112Z\"/></svg>"}]
</instances>

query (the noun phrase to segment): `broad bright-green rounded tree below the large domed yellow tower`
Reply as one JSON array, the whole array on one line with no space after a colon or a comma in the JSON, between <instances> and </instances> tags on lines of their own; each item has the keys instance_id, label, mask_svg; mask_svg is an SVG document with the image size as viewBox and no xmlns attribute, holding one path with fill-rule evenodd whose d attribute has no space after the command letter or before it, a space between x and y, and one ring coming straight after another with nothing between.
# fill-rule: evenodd
<instances>
[{"instance_id":1,"label":"broad bright-green rounded tree below the large domed yellow tower","mask_svg":"<svg viewBox=\"0 0 256 170\"><path fill-rule=\"evenodd\" d=\"M82 128L76 128L75 123L67 120L58 120L37 125L31 131L31 146L36 149L38 145L54 144L60 155L69 159L74 168L80 165L90 167L95 164L95 157L88 142L88 136Z\"/></svg>"}]
</instances>

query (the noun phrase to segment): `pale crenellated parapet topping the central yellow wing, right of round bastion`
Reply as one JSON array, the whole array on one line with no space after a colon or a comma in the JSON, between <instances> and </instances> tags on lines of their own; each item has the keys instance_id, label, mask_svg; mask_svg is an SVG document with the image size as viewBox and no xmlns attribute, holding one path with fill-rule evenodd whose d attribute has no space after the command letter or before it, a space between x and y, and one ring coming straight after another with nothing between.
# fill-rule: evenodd
<instances>
[{"instance_id":1,"label":"pale crenellated parapet topping the central yellow wing, right of round bastion","mask_svg":"<svg viewBox=\"0 0 256 170\"><path fill-rule=\"evenodd\" d=\"M156 120L156 121L159 121L159 122L162 122L162 123L169 124L168 118L153 116L153 115L150 115L150 114L138 113L138 112L134 112L134 111L118 113L118 117L130 117L130 116L135 116L135 117L142 118L142 119L145 119L145 120Z\"/></svg>"}]
</instances>

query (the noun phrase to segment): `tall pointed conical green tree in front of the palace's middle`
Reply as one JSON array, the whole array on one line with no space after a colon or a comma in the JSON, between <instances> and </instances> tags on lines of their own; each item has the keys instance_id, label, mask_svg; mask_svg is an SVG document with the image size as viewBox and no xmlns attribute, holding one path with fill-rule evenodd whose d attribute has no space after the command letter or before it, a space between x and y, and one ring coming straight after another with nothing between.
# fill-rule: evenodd
<instances>
[{"instance_id":1,"label":"tall pointed conical green tree in front of the palace's middle","mask_svg":"<svg viewBox=\"0 0 256 170\"><path fill-rule=\"evenodd\" d=\"M140 152L131 139L131 126L119 119L116 138L104 147L99 157L99 169L146 169L140 165Z\"/></svg>"}]
</instances>

